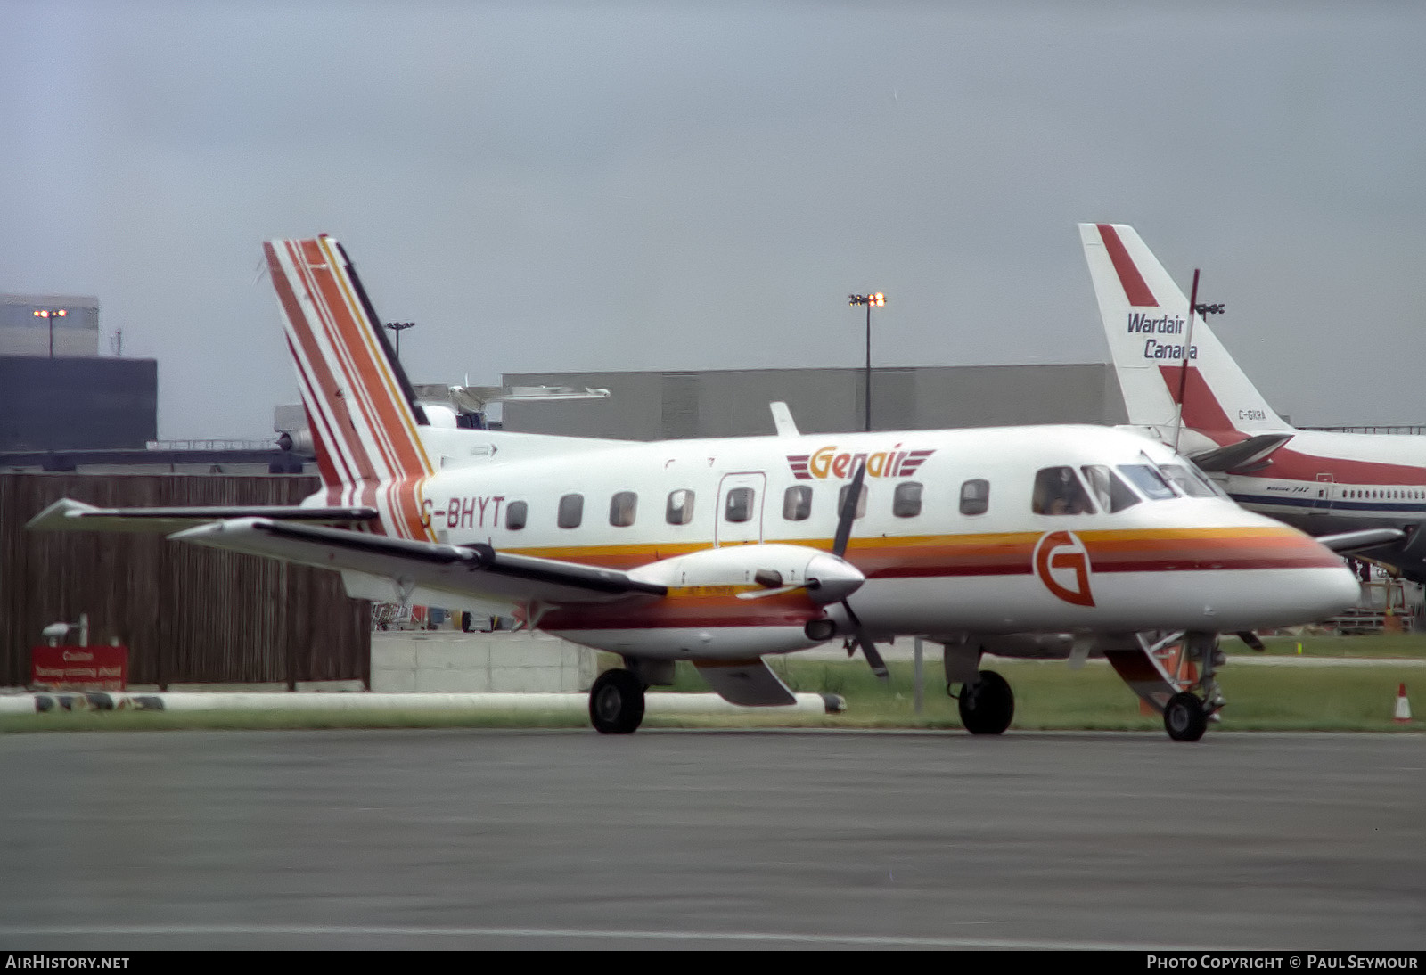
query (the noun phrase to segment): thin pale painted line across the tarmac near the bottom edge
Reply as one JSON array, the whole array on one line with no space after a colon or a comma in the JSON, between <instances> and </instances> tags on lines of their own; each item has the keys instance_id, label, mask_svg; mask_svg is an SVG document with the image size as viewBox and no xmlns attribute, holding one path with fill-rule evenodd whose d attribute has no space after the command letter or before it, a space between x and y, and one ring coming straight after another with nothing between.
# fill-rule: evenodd
<instances>
[{"instance_id":1,"label":"thin pale painted line across the tarmac near the bottom edge","mask_svg":"<svg viewBox=\"0 0 1426 975\"><path fill-rule=\"evenodd\" d=\"M100 925L0 928L0 937L100 937L100 935L379 935L451 938L597 938L605 941L736 941L771 944L838 944L907 948L1007 948L1042 951L1208 951L1191 946L1115 941L1037 941L1032 938L935 938L918 935L780 934L773 931L593 931L579 928L429 928L351 925Z\"/></svg>"}]
</instances>

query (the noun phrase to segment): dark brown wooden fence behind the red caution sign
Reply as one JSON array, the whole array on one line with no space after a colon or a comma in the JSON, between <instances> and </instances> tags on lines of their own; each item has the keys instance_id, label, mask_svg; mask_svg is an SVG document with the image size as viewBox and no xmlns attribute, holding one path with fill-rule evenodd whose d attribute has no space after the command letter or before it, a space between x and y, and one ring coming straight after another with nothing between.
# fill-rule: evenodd
<instances>
[{"instance_id":1,"label":"dark brown wooden fence behind the red caution sign","mask_svg":"<svg viewBox=\"0 0 1426 975\"><path fill-rule=\"evenodd\" d=\"M315 478L0 473L0 686L30 647L88 613L90 643L128 647L131 684L361 680L371 607L334 572L168 542L163 535L26 532L60 497L104 507L295 505Z\"/></svg>"}]
</instances>

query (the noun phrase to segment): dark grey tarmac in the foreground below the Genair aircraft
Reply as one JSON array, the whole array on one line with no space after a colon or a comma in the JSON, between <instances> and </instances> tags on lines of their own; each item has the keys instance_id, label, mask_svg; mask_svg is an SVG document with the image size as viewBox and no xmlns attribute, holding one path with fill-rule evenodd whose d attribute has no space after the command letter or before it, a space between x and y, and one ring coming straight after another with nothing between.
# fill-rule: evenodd
<instances>
[{"instance_id":1,"label":"dark grey tarmac in the foreground below the Genair aircraft","mask_svg":"<svg viewBox=\"0 0 1426 975\"><path fill-rule=\"evenodd\" d=\"M0 737L0 949L1426 948L1426 737Z\"/></svg>"}]
</instances>

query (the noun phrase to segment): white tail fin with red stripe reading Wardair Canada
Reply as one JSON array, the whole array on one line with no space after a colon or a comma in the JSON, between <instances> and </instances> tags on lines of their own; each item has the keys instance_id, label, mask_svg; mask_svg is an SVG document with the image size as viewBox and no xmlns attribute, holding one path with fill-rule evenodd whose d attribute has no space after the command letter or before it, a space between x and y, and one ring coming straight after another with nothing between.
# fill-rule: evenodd
<instances>
[{"instance_id":1,"label":"white tail fin with red stripe reading Wardair Canada","mask_svg":"<svg viewBox=\"0 0 1426 975\"><path fill-rule=\"evenodd\" d=\"M1125 224L1079 224L1104 335L1135 426L1172 428L1184 389L1184 426L1201 432L1288 430L1202 318L1188 332L1188 298ZM1184 342L1188 375L1184 375ZM1186 382L1185 382L1186 381Z\"/></svg>"}]
</instances>

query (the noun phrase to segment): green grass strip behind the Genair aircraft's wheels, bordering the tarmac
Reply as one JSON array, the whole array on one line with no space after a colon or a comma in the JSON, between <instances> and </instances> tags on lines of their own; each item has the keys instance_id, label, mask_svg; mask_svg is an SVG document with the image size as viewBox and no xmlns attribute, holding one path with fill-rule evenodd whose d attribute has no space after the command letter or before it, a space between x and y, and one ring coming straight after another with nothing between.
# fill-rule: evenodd
<instances>
[{"instance_id":1,"label":"green grass strip behind the Genair aircraft's wheels, bordering the tarmac","mask_svg":"<svg viewBox=\"0 0 1426 975\"><path fill-rule=\"evenodd\" d=\"M1156 731L1156 714L1142 714L1138 698L1099 661L1070 670L1062 661L997 661L1015 691L1015 721L1022 730ZM925 663L924 707L915 713L914 670L891 661L890 680L878 681L860 659L848 661L773 660L794 691L840 694L843 714L776 714L749 708L732 716L650 716L645 727L757 728L958 728L957 703L947 697L940 661ZM1423 731L1426 694L1417 694L1417 720L1393 720L1396 688L1422 681L1420 669L1378 666L1342 669L1238 667L1221 671L1228 707L1215 727L1238 731ZM674 691L706 693L697 671L679 664ZM6 731L87 731L167 728L569 728L586 727L583 713L429 713L402 711L56 711L0 716Z\"/></svg>"}]
</instances>

